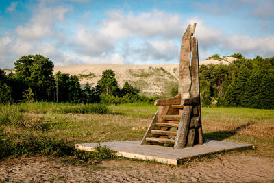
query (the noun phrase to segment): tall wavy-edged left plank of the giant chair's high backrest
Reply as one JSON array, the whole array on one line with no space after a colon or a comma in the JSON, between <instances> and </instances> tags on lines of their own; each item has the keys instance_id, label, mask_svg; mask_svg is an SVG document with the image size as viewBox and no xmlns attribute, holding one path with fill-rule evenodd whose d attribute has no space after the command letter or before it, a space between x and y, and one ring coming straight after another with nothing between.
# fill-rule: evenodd
<instances>
[{"instance_id":1,"label":"tall wavy-edged left plank of the giant chair's high backrest","mask_svg":"<svg viewBox=\"0 0 274 183\"><path fill-rule=\"evenodd\" d=\"M196 23L189 24L182 38L180 62L179 62L179 93L181 93L181 103L184 99L190 98L191 75L190 75L190 38L195 32Z\"/></svg>"}]
</instances>

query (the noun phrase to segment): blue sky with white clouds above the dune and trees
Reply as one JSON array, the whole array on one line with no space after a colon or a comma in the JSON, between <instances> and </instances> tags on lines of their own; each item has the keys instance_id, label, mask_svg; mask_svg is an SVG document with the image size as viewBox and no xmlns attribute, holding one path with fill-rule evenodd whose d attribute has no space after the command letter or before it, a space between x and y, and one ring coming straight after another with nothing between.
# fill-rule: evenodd
<instances>
[{"instance_id":1,"label":"blue sky with white clouds above the dune and trees","mask_svg":"<svg viewBox=\"0 0 274 183\"><path fill-rule=\"evenodd\" d=\"M1 0L0 68L34 54L55 66L179 63L188 23L199 60L274 56L274 0Z\"/></svg>"}]
</instances>

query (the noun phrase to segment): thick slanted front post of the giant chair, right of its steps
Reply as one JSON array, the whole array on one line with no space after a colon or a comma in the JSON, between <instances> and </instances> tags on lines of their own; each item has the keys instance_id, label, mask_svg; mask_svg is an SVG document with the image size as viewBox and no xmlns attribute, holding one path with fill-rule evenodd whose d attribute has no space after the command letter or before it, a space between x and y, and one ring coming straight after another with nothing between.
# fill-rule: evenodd
<instances>
[{"instance_id":1,"label":"thick slanted front post of the giant chair, right of its steps","mask_svg":"<svg viewBox=\"0 0 274 183\"><path fill-rule=\"evenodd\" d=\"M177 132L174 148L186 147L186 136L188 135L188 127L190 125L190 117L193 106L185 106L181 121Z\"/></svg>"}]
</instances>

